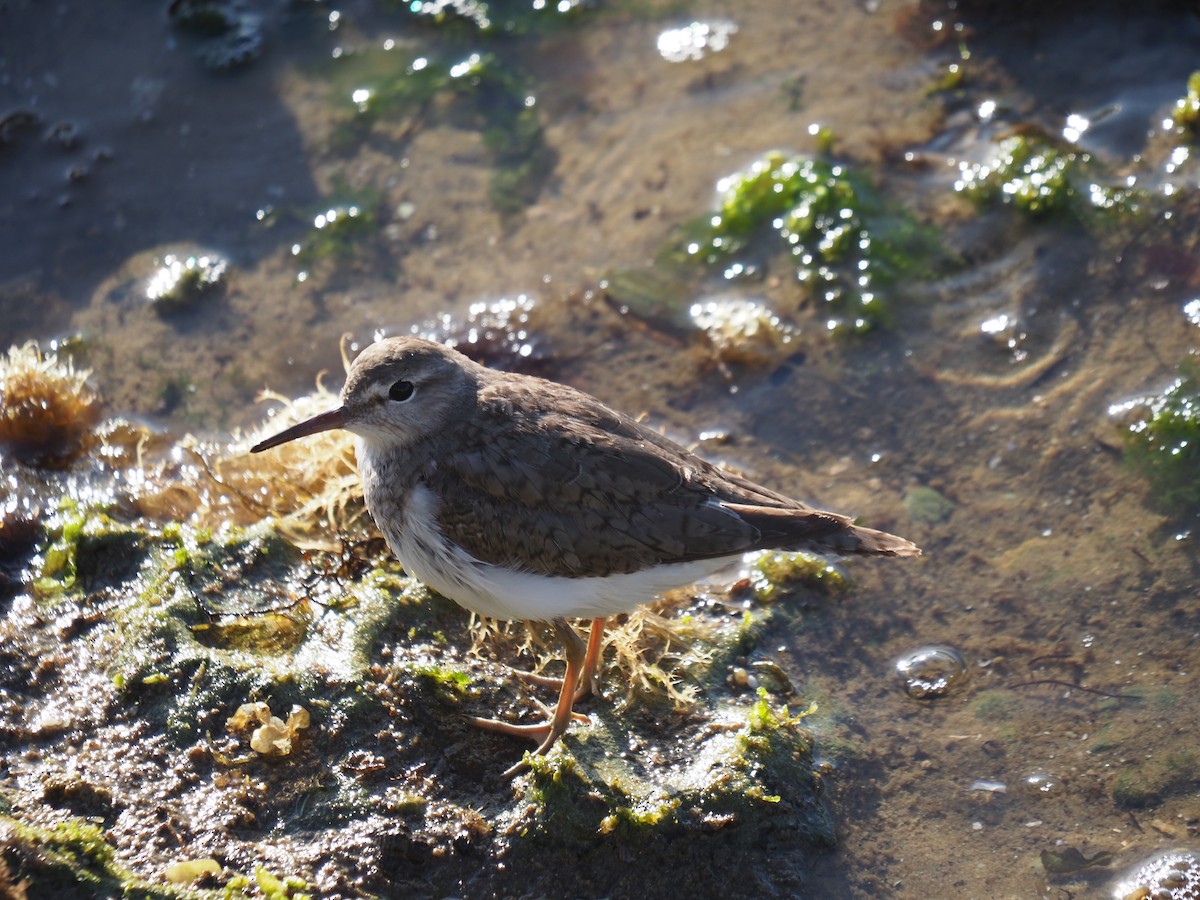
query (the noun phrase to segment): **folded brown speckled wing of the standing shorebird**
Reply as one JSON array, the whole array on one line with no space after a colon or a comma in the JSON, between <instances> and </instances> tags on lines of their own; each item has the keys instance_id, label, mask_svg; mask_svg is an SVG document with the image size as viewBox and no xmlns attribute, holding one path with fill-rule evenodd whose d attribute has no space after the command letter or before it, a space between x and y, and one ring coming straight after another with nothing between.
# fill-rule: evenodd
<instances>
[{"instance_id":1,"label":"folded brown speckled wing of the standing shorebird","mask_svg":"<svg viewBox=\"0 0 1200 900\"><path fill-rule=\"evenodd\" d=\"M553 388L547 401L540 382L485 385L476 422L426 475L442 496L443 534L476 559L581 577L766 547L860 552L850 520L724 473L592 397Z\"/></svg>"}]
</instances>

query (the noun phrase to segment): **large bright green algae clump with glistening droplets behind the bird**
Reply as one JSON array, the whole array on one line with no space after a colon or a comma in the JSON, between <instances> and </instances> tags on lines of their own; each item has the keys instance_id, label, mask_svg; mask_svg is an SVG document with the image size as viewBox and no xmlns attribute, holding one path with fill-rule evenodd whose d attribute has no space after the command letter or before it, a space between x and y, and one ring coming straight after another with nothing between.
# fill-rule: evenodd
<instances>
[{"instance_id":1,"label":"large bright green algae clump with glistening droplets behind the bird","mask_svg":"<svg viewBox=\"0 0 1200 900\"><path fill-rule=\"evenodd\" d=\"M685 226L667 258L724 264L769 227L835 335L887 324L888 287L928 269L936 253L931 229L884 203L862 174L823 158L772 152L718 191L716 211Z\"/></svg>"}]
</instances>

